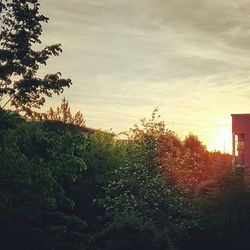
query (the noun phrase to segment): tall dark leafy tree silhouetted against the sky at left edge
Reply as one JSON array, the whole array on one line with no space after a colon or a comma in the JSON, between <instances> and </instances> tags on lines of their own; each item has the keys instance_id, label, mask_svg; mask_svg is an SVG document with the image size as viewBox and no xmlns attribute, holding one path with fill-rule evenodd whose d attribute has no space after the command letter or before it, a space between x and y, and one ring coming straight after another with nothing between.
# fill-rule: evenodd
<instances>
[{"instance_id":1,"label":"tall dark leafy tree silhouetted against the sky at left edge","mask_svg":"<svg viewBox=\"0 0 250 250\"><path fill-rule=\"evenodd\" d=\"M27 115L41 107L46 96L60 94L72 84L60 72L37 76L41 65L62 52L61 44L34 49L41 43L42 23L49 20L39 13L39 6L38 0L0 1L0 107L9 104Z\"/></svg>"}]
</instances>

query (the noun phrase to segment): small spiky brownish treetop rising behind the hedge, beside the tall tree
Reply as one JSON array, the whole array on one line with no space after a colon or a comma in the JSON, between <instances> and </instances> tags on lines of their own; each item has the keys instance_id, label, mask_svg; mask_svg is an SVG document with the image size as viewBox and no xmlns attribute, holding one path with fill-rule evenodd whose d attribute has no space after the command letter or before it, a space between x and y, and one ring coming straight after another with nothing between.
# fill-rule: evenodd
<instances>
[{"instance_id":1,"label":"small spiky brownish treetop rising behind the hedge, beside the tall tree","mask_svg":"<svg viewBox=\"0 0 250 250\"><path fill-rule=\"evenodd\" d=\"M70 123L81 127L85 126L85 119L81 111L75 115L71 114L69 101L64 97L60 106L54 110L50 108L46 114L38 114L38 118L53 121L62 121L63 123Z\"/></svg>"}]
</instances>

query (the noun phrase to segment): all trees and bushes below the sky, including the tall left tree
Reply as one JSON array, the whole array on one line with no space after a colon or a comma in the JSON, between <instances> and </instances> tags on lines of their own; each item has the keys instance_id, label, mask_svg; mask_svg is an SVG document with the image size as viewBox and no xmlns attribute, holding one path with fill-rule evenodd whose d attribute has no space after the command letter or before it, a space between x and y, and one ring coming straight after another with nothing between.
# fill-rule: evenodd
<instances>
[{"instance_id":1,"label":"all trees and bushes below the sky, including the tall left tree","mask_svg":"<svg viewBox=\"0 0 250 250\"><path fill-rule=\"evenodd\" d=\"M63 99L40 120L44 96L69 79L36 76L61 52L41 51L37 0L0 1L0 249L249 249L250 189L230 155L181 140L157 110L128 132L86 130ZM45 119L46 118L46 119Z\"/></svg>"}]
</instances>

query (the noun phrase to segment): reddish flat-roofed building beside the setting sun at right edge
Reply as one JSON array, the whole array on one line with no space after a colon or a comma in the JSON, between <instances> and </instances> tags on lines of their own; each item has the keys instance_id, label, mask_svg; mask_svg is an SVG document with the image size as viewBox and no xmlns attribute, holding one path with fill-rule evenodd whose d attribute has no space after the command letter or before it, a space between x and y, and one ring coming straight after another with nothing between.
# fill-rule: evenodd
<instances>
[{"instance_id":1,"label":"reddish flat-roofed building beside the setting sun at right edge","mask_svg":"<svg viewBox=\"0 0 250 250\"><path fill-rule=\"evenodd\" d=\"M234 166L250 169L250 114L232 114Z\"/></svg>"}]
</instances>

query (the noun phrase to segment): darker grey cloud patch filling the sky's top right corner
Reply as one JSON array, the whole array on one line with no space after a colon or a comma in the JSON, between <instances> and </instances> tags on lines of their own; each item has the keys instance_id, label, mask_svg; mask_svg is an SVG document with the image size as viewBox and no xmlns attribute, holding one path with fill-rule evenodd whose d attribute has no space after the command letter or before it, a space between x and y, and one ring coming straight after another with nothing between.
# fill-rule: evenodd
<instances>
[{"instance_id":1,"label":"darker grey cloud patch filling the sky's top right corner","mask_svg":"<svg viewBox=\"0 0 250 250\"><path fill-rule=\"evenodd\" d=\"M136 1L163 29L189 30L230 47L249 49L250 2L217 0Z\"/></svg>"}]
</instances>

